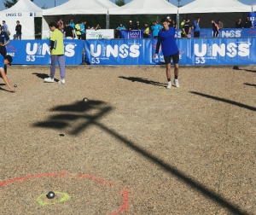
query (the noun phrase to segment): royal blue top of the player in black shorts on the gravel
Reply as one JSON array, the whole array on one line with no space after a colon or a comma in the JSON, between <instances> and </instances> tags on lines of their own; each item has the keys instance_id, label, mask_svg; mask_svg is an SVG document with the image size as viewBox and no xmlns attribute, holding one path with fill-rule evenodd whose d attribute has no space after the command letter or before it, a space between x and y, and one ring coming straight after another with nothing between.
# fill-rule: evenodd
<instances>
[{"instance_id":1,"label":"royal blue top of the player in black shorts on the gravel","mask_svg":"<svg viewBox=\"0 0 256 215\"><path fill-rule=\"evenodd\" d=\"M169 27L168 30L160 31L158 33L157 43L161 44L164 56L170 56L178 53L176 44L175 28Z\"/></svg>"}]
</instances>

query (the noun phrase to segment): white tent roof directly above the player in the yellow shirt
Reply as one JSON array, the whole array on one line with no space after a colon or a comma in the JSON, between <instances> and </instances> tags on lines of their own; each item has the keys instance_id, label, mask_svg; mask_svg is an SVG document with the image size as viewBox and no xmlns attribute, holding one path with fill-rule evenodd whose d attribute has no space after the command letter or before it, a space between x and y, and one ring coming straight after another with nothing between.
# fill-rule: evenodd
<instances>
[{"instance_id":1,"label":"white tent roof directly above the player in the yellow shirt","mask_svg":"<svg viewBox=\"0 0 256 215\"><path fill-rule=\"evenodd\" d=\"M107 15L108 9L115 7L118 6L108 0L70 0L55 8L44 9L43 15Z\"/></svg>"}]
</instances>

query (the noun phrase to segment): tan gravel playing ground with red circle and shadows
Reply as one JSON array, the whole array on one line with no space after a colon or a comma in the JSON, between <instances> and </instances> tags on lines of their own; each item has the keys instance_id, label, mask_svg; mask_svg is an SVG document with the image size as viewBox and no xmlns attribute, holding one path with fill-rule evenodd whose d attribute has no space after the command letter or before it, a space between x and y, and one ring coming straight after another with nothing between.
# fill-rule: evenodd
<instances>
[{"instance_id":1,"label":"tan gravel playing ground with red circle and shadows","mask_svg":"<svg viewBox=\"0 0 256 215\"><path fill-rule=\"evenodd\" d=\"M256 67L8 69L0 214L256 214Z\"/></svg>"}]
</instances>

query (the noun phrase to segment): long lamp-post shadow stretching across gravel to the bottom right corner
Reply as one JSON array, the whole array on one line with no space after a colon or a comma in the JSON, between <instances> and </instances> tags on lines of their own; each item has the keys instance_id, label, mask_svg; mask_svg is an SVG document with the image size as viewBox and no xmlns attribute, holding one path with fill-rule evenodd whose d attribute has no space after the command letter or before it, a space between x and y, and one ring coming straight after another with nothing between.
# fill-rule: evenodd
<instances>
[{"instance_id":1,"label":"long lamp-post shadow stretching across gravel to the bottom right corner","mask_svg":"<svg viewBox=\"0 0 256 215\"><path fill-rule=\"evenodd\" d=\"M150 162L154 162L156 165L160 166L164 171L169 172L172 177L177 177L178 180L183 181L183 183L186 183L192 189L195 189L195 191L201 193L208 199L217 202L220 206L225 207L233 214L249 215L249 213L240 209L239 206L236 206L229 200L224 199L222 196L218 195L218 193L212 191L211 189L207 189L204 184L195 181L182 171L179 171L177 168L167 164L165 160L160 160L151 152L145 150L141 146L138 146L136 142L132 142L128 138L121 136L118 132L111 130L106 125L102 125L101 123L97 122L97 119L106 116L106 114L110 113L112 109L113 108L108 106L106 102L102 101L75 102L70 105L57 106L50 109L50 112L58 113L51 115L46 121L38 122L33 126L52 129L60 129L66 127L70 128L74 126L73 123L77 119L84 119L84 123L78 125L77 127L74 127L73 131L69 133L70 135L76 136L80 132L85 131L85 129L88 128L90 125L94 125L102 131L108 133L112 137L115 137L119 141L119 143L124 144L126 147L131 148L131 150L133 150L137 154L140 154L145 159L149 160ZM93 114L90 113L91 110L94 111ZM97 112L95 113L95 111Z\"/></svg>"}]
</instances>

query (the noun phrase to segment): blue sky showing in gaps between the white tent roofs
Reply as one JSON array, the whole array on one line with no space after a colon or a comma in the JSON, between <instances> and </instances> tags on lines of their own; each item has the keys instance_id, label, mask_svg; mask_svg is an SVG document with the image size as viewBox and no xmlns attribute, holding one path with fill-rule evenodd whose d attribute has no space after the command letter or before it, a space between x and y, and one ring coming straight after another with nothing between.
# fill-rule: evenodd
<instances>
[{"instance_id":1,"label":"blue sky showing in gaps between the white tent roofs","mask_svg":"<svg viewBox=\"0 0 256 215\"><path fill-rule=\"evenodd\" d=\"M62 3L67 3L67 1L68 0L34 0L34 3L37 4L38 7L40 7L40 8L42 8L45 4L46 7L48 9L50 9L50 8L55 7L55 3L56 3L56 6L58 6ZM84 0L84 1L86 1L86 0ZM157 0L152 0L152 1L157 2ZM194 0L181 0L180 5L185 5L185 4L191 3L193 1ZM210 1L210 0L205 0L205 1ZM115 0L112 0L112 2L114 3ZM130 2L131 2L131 0L125 0L125 3L130 3ZM169 2L177 6L177 0L169 0ZM248 5L252 5L253 3L256 3L256 0L239 0L239 2L248 4ZM0 0L0 10L3 10L3 9L5 9L4 5L3 5L3 1Z\"/></svg>"}]
</instances>

